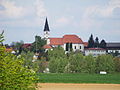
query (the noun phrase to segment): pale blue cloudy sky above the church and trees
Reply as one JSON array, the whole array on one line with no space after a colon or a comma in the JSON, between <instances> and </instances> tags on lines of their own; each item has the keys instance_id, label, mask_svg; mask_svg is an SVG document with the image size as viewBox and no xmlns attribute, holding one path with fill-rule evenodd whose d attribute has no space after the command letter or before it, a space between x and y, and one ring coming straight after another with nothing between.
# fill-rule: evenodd
<instances>
[{"instance_id":1,"label":"pale blue cloudy sky above the church and trees","mask_svg":"<svg viewBox=\"0 0 120 90\"><path fill-rule=\"evenodd\" d=\"M0 33L4 43L34 42L43 37L45 19L50 37L91 34L99 41L120 42L120 0L0 0Z\"/></svg>"}]
</instances>

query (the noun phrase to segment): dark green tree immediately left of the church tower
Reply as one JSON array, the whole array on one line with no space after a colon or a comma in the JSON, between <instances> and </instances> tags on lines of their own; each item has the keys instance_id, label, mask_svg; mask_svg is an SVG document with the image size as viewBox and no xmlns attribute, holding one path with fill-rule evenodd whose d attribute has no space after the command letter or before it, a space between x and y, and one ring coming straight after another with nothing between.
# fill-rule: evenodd
<instances>
[{"instance_id":1,"label":"dark green tree immediately left of the church tower","mask_svg":"<svg viewBox=\"0 0 120 90\"><path fill-rule=\"evenodd\" d=\"M46 44L46 40L42 39L40 36L35 36L35 41L32 43L32 51L43 51L43 46Z\"/></svg>"}]
</instances>

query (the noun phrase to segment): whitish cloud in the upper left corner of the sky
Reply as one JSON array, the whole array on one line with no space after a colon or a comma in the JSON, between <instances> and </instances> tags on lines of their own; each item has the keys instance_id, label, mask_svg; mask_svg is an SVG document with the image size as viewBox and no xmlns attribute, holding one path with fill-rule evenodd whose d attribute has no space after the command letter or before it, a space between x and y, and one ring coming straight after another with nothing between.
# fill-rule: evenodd
<instances>
[{"instance_id":1,"label":"whitish cloud in the upper left corner of the sky","mask_svg":"<svg viewBox=\"0 0 120 90\"><path fill-rule=\"evenodd\" d=\"M19 18L26 15L26 9L20 6L16 6L14 1L2 0L0 2L2 10L0 10L0 16L8 18Z\"/></svg>"}]
</instances>

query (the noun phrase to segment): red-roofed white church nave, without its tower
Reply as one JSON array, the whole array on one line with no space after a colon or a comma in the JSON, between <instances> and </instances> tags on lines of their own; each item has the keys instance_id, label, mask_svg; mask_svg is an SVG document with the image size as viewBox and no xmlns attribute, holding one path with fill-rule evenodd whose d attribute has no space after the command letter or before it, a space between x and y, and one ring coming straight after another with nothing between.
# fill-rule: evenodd
<instances>
[{"instance_id":1,"label":"red-roofed white church nave, without its tower","mask_svg":"<svg viewBox=\"0 0 120 90\"><path fill-rule=\"evenodd\" d=\"M58 47L61 46L64 48L64 50L69 51L70 48L67 48L67 45L70 46L73 51L79 50L84 51L84 44L81 38L79 38L77 35L64 35L62 38L48 38L47 39L47 45L51 45L52 47Z\"/></svg>"}]
</instances>

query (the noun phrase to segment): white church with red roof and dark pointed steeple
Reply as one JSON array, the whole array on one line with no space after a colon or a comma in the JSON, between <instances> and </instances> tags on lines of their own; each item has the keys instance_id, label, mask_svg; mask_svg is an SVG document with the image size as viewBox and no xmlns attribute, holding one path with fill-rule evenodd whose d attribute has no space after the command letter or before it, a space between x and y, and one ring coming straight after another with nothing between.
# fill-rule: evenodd
<instances>
[{"instance_id":1,"label":"white church with red roof and dark pointed steeple","mask_svg":"<svg viewBox=\"0 0 120 90\"><path fill-rule=\"evenodd\" d=\"M86 46L86 43L83 42L80 37L74 34L64 35L56 38L50 37L50 29L47 18L44 26L44 39L47 41L47 44L44 46L46 50L60 46L63 47L65 51L78 50L84 52L84 47Z\"/></svg>"}]
</instances>

